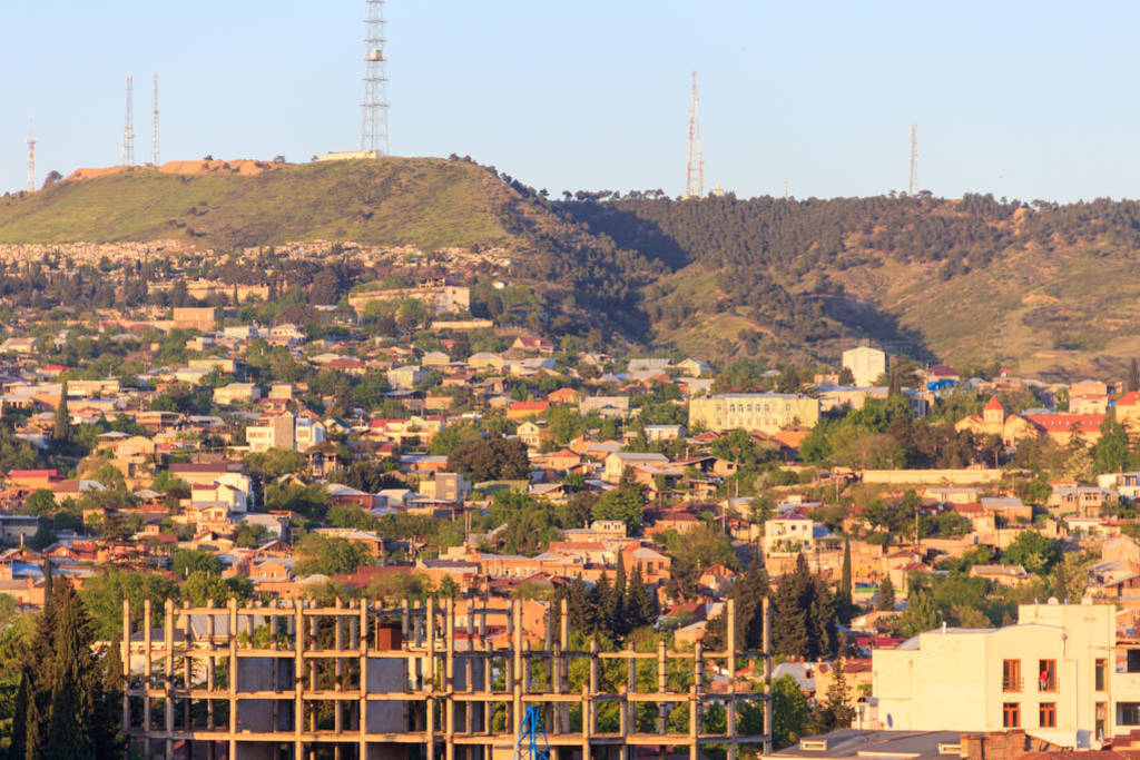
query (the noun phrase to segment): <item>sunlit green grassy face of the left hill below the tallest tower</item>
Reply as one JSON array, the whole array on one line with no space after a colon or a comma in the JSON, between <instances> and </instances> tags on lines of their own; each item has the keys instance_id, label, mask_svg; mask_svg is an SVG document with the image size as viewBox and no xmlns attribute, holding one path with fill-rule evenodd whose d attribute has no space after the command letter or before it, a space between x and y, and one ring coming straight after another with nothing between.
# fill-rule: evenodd
<instances>
[{"instance_id":1,"label":"sunlit green grassy face of the left hill below the tallest tower","mask_svg":"<svg viewBox=\"0 0 1140 760\"><path fill-rule=\"evenodd\" d=\"M213 247L307 239L470 246L507 239L502 212L512 196L474 164L435 158L296 164L247 177L138 167L0 201L0 243L193 236Z\"/></svg>"}]
</instances>

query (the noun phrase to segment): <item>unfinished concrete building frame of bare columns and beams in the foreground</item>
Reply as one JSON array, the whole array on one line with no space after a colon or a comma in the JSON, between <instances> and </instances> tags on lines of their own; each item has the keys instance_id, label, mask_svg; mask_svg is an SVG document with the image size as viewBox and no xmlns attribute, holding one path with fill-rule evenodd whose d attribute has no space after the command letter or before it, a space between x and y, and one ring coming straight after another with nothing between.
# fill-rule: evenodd
<instances>
[{"instance_id":1,"label":"unfinished concrete building frame of bare columns and beams in the foreground","mask_svg":"<svg viewBox=\"0 0 1140 760\"><path fill-rule=\"evenodd\" d=\"M165 758L513 758L530 708L542 711L551 757L597 758L635 747L691 760L719 745L771 750L769 612L762 652L738 652L725 606L726 648L572 648L565 602L544 630L523 631L523 604L176 607L149 602L132 628L123 604L123 733L128 753ZM552 614L557 620L552 620ZM489 630L497 616L505 629ZM579 641L581 639L578 639ZM538 646L532 646L537 643ZM738 665L760 678L738 690ZM723 688L712 688L714 675ZM618 688L604 688L619 681ZM572 683L580 688L573 688ZM363 688L361 688L363 686ZM738 732L740 703L763 710L764 733ZM710 705L724 730L703 728ZM534 711L531 718L534 718ZM603 716L604 713L604 716ZM600 720L600 717L603 719ZM603 725L605 724L605 725ZM604 730L603 730L604 729ZM616 729L616 730L614 730ZM205 745L205 746L202 746Z\"/></svg>"}]
</instances>

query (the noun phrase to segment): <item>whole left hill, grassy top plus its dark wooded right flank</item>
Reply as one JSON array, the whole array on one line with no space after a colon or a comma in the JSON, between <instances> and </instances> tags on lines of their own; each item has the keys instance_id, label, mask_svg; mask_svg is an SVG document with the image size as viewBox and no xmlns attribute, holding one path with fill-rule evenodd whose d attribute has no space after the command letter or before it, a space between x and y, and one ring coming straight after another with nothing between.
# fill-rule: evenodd
<instances>
[{"instance_id":1,"label":"whole left hill, grassy top plus its dark wooded right flank","mask_svg":"<svg viewBox=\"0 0 1140 760\"><path fill-rule=\"evenodd\" d=\"M542 294L555 332L636 337L646 337L638 287L663 272L467 158L80 170L39 193L0 198L0 243L158 239L222 251L308 240L502 248L515 262L512 276Z\"/></svg>"}]
</instances>

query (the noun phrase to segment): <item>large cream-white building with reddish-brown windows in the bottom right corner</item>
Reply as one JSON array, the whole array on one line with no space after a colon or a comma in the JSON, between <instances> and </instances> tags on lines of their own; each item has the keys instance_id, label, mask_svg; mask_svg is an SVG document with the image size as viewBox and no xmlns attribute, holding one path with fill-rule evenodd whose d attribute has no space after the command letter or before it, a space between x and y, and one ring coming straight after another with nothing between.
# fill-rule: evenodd
<instances>
[{"instance_id":1,"label":"large cream-white building with reddish-brown windows in the bottom right corner","mask_svg":"<svg viewBox=\"0 0 1140 760\"><path fill-rule=\"evenodd\" d=\"M1024 604L1003 628L942 628L872 656L872 726L1024 728L1097 747L1140 728L1140 639L1117 635L1112 605Z\"/></svg>"}]
</instances>

